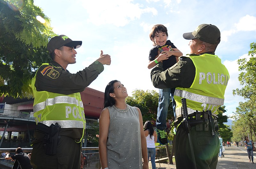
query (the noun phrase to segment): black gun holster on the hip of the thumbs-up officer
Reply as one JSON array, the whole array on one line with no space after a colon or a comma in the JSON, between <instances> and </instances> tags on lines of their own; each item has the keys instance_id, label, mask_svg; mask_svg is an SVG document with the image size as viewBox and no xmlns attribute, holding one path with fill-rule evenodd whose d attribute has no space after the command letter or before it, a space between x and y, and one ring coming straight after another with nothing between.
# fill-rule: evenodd
<instances>
[{"instance_id":1,"label":"black gun holster on the hip of the thumbs-up officer","mask_svg":"<svg viewBox=\"0 0 256 169\"><path fill-rule=\"evenodd\" d=\"M57 153L60 128L61 126L58 123L51 124L51 126L46 126L40 122L37 123L36 131L44 133L43 144L46 155L55 155Z\"/></svg>"}]
</instances>

